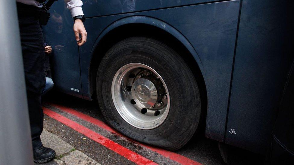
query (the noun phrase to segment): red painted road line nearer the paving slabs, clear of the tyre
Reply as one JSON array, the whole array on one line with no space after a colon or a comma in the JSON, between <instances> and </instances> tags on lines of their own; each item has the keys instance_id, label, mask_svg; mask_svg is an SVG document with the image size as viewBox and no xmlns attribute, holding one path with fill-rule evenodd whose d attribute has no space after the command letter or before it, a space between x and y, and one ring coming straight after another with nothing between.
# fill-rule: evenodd
<instances>
[{"instance_id":1,"label":"red painted road line nearer the paving slabs, clear of the tyre","mask_svg":"<svg viewBox=\"0 0 294 165\"><path fill-rule=\"evenodd\" d=\"M149 160L145 157L143 157L142 155L137 154L136 152L133 152L119 144L117 144L116 142L111 141L110 139L107 139L106 137L62 116L59 115L56 112L53 112L51 110L49 110L48 108L44 108L44 113L48 116L50 116L51 118L54 118L57 121L60 121L61 123L67 125L68 127L72 128L73 130L76 130L79 133L84 134L85 136L93 139L94 141L104 145L105 147L111 149L112 151L116 152L117 154L120 154L121 156L133 161L136 164L140 164L140 165L157 165L157 163L153 162L152 160Z\"/></svg>"}]
</instances>

